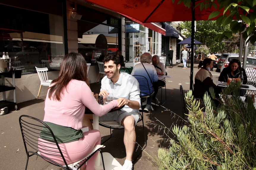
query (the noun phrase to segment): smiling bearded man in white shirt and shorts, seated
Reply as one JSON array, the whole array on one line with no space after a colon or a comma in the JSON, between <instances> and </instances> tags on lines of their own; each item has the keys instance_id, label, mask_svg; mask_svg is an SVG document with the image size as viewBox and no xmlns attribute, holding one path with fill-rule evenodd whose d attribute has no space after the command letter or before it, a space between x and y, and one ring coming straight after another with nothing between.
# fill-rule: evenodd
<instances>
[{"instance_id":1,"label":"smiling bearded man in white shirt and shorts, seated","mask_svg":"<svg viewBox=\"0 0 256 170\"><path fill-rule=\"evenodd\" d=\"M121 170L132 170L132 155L135 148L135 124L139 119L140 88L135 77L120 72L120 59L109 54L103 60L106 76L101 80L99 95L107 96L109 93L118 98L118 106L125 105L123 109L110 112L99 117L99 121L117 121L124 127L124 146L126 160ZM92 119L92 115L90 117Z\"/></svg>"}]
</instances>

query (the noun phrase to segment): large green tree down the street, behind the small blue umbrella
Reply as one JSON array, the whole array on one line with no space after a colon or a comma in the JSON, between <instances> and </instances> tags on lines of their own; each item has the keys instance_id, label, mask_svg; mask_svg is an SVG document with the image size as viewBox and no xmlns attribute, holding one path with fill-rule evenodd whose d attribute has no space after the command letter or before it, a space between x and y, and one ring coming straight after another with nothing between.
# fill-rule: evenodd
<instances>
[{"instance_id":1,"label":"large green tree down the street, behind the small blue umbrella","mask_svg":"<svg viewBox=\"0 0 256 170\"><path fill-rule=\"evenodd\" d=\"M186 37L191 36L191 21L181 22L180 27ZM197 21L195 39L208 46L212 52L222 52L225 43L214 41L214 37L222 32L222 27L216 21Z\"/></svg>"}]
</instances>

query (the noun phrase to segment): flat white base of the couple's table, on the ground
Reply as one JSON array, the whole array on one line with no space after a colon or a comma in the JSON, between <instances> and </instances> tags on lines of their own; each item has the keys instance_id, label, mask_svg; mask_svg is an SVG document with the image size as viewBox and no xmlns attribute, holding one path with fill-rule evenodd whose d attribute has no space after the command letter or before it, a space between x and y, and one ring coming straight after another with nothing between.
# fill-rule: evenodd
<instances>
[{"instance_id":1,"label":"flat white base of the couple's table, on the ground","mask_svg":"<svg viewBox=\"0 0 256 170\"><path fill-rule=\"evenodd\" d=\"M105 170L120 170L122 165L108 152L103 152L103 160L105 165ZM100 158L100 166L94 166L95 170L102 170L102 160Z\"/></svg>"}]
</instances>

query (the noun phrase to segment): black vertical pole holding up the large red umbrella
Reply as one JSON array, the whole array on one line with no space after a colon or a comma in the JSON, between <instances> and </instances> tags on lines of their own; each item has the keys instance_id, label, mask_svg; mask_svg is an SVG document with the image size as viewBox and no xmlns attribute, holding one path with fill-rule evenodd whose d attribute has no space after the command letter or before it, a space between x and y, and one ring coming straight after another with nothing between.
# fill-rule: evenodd
<instances>
[{"instance_id":1,"label":"black vertical pole holding up the large red umbrella","mask_svg":"<svg viewBox=\"0 0 256 170\"><path fill-rule=\"evenodd\" d=\"M192 22L191 22L191 54L194 55L195 47L195 0L192 0ZM193 69L194 69L194 60L191 60L190 64L190 90L193 90Z\"/></svg>"}]
</instances>

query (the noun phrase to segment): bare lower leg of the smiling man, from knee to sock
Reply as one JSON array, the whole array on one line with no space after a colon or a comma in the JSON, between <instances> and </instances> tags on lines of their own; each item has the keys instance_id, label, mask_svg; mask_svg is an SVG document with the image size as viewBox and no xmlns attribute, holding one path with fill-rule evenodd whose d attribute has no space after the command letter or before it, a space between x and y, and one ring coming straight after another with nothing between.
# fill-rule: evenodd
<instances>
[{"instance_id":1,"label":"bare lower leg of the smiling man, from knee to sock","mask_svg":"<svg viewBox=\"0 0 256 170\"><path fill-rule=\"evenodd\" d=\"M132 154L135 148L135 119L131 115L124 117L122 121L124 126L124 146L126 150L126 159L132 161Z\"/></svg>"}]
</instances>

